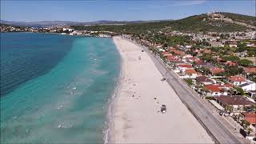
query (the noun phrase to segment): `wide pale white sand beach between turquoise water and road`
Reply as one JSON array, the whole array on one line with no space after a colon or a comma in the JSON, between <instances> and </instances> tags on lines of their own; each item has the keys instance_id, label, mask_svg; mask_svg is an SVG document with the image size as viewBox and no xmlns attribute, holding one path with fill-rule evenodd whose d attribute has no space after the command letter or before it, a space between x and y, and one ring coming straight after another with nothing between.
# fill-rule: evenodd
<instances>
[{"instance_id":1,"label":"wide pale white sand beach between turquoise water and road","mask_svg":"<svg viewBox=\"0 0 256 144\"><path fill-rule=\"evenodd\" d=\"M114 37L114 43L122 56L122 79L110 143L214 143L174 90L161 81L149 55L125 39ZM166 114L159 112L162 104Z\"/></svg>"}]
</instances>

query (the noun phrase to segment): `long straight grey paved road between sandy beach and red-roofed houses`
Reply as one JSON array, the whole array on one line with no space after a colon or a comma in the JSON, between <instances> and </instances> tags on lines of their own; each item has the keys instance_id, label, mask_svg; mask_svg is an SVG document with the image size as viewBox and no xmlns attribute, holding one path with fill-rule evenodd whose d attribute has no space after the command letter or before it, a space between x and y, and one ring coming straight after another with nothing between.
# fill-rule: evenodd
<instances>
[{"instance_id":1,"label":"long straight grey paved road between sandy beach and red-roofed houses","mask_svg":"<svg viewBox=\"0 0 256 144\"><path fill-rule=\"evenodd\" d=\"M230 126L230 123L226 122L226 120L221 118L218 114L213 114L214 112L210 111L213 107L210 107L206 100L202 99L198 94L193 94L192 90L190 90L186 83L178 78L177 74L168 70L162 62L162 59L150 53L146 47L142 46L142 48L150 55L155 66L162 75L166 77L166 81L173 87L178 97L194 117L198 119L198 122L205 128L206 132L213 138L215 143L247 143L246 139Z\"/></svg>"}]
</instances>

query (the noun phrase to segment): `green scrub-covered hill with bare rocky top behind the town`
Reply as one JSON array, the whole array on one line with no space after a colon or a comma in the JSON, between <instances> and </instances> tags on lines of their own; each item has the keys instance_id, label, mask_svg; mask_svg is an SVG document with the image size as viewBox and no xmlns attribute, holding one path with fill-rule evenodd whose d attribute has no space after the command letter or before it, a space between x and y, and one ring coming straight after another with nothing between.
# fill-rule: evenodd
<instances>
[{"instance_id":1,"label":"green scrub-covered hill with bare rocky top behind the town","mask_svg":"<svg viewBox=\"0 0 256 144\"><path fill-rule=\"evenodd\" d=\"M179 30L182 32L233 32L256 30L255 17L242 14L211 13L194 15L175 21L129 23L123 26L73 26L78 30L106 30L117 33L140 33L154 30Z\"/></svg>"}]
</instances>

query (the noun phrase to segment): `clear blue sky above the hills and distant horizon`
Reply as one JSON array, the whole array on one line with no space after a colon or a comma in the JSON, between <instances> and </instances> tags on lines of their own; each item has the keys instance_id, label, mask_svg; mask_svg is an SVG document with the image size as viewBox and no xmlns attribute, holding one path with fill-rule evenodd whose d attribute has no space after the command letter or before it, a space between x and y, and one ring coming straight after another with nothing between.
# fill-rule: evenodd
<instances>
[{"instance_id":1,"label":"clear blue sky above the hills and distant horizon","mask_svg":"<svg viewBox=\"0 0 256 144\"><path fill-rule=\"evenodd\" d=\"M1 20L74 21L98 20L137 21L180 19L214 11L255 16L255 0L0 0Z\"/></svg>"}]
</instances>

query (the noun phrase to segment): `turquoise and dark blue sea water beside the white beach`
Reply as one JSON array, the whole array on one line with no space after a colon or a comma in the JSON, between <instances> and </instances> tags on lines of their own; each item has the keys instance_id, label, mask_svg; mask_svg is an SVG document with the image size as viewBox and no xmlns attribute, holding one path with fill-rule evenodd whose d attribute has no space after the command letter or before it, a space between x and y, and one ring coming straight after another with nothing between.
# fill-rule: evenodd
<instances>
[{"instance_id":1,"label":"turquoise and dark blue sea water beside the white beach","mask_svg":"<svg viewBox=\"0 0 256 144\"><path fill-rule=\"evenodd\" d=\"M119 67L110 38L1 34L1 143L102 143Z\"/></svg>"}]
</instances>

